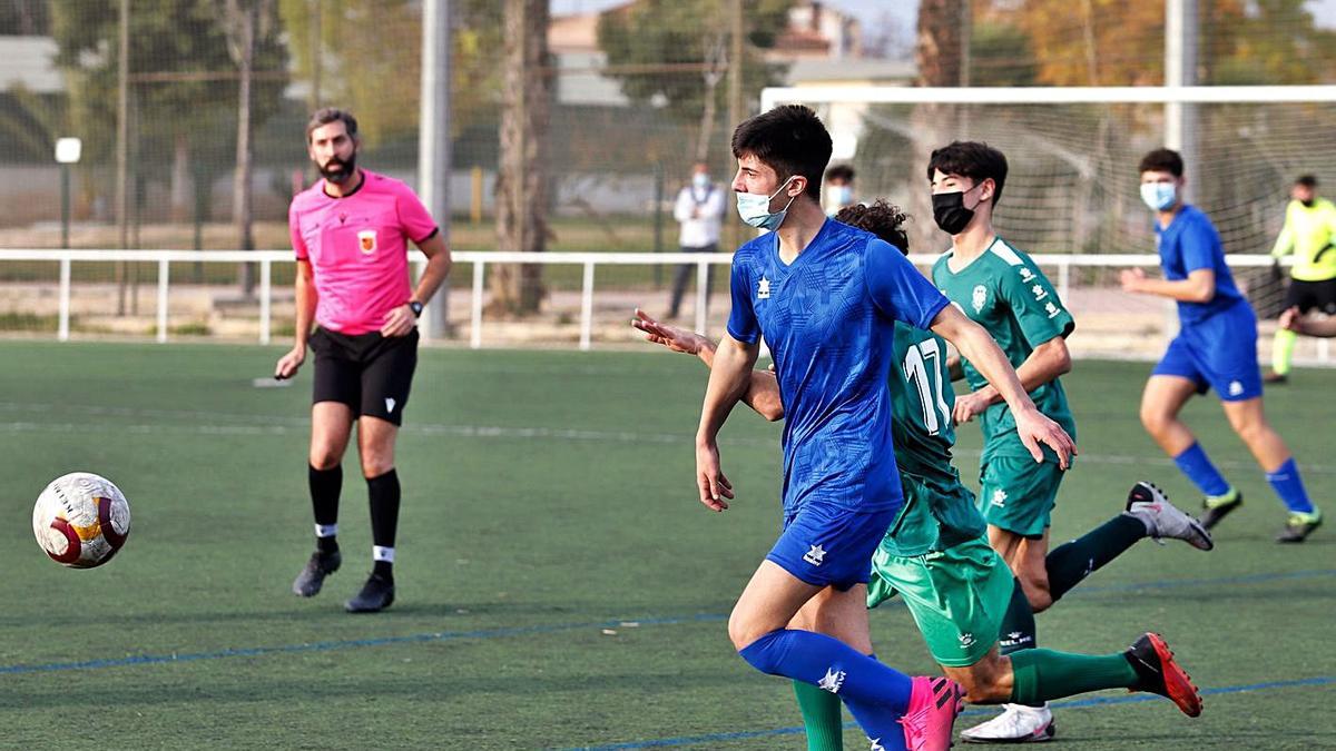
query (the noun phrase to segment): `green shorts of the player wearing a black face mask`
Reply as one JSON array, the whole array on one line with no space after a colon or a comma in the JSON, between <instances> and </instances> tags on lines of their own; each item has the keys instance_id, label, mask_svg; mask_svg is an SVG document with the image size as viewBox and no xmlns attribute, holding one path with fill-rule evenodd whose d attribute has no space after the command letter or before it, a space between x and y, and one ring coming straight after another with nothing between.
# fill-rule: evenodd
<instances>
[{"instance_id":1,"label":"green shorts of the player wearing a black face mask","mask_svg":"<svg viewBox=\"0 0 1336 751\"><path fill-rule=\"evenodd\" d=\"M1065 470L1051 461L999 456L983 465L979 513L993 527L1038 539L1051 524Z\"/></svg>"}]
</instances>

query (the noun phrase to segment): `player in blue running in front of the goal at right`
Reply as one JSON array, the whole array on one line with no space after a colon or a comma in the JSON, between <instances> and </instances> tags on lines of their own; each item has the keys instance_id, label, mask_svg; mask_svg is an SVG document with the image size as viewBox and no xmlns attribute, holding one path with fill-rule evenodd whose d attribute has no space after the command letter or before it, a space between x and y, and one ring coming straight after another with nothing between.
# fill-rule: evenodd
<instances>
[{"instance_id":1,"label":"player in blue running in front of the goal at right","mask_svg":"<svg viewBox=\"0 0 1336 751\"><path fill-rule=\"evenodd\" d=\"M1141 424L1206 496L1202 524L1210 528L1242 504L1242 494L1210 462L1178 413L1193 394L1214 389L1229 425L1289 509L1276 540L1303 543L1321 524L1321 512L1308 498L1289 448L1263 413L1257 317L1234 286L1216 227L1182 200L1182 158L1157 148L1141 159L1140 172L1141 198L1156 212L1164 278L1126 270L1122 289L1177 301L1180 322L1178 335L1146 381Z\"/></svg>"}]
</instances>

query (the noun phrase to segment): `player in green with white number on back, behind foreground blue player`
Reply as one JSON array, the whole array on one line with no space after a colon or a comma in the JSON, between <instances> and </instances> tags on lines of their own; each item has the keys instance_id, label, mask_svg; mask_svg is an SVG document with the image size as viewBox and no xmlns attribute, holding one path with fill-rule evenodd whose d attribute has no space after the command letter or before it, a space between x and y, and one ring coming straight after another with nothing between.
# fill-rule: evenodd
<instances>
[{"instance_id":1,"label":"player in green with white number on back, behind foreground blue player","mask_svg":"<svg viewBox=\"0 0 1336 751\"><path fill-rule=\"evenodd\" d=\"M878 202L839 212L838 219L874 231L903 249L899 231L904 215ZM632 323L648 339L675 351L697 355L712 365L715 343L703 335L659 323L644 313ZM955 430L951 413L946 342L929 331L895 327L895 370L887 382L892 404L895 461L904 505L872 557L868 607L899 593L919 627L933 657L949 678L961 683L974 703L1043 702L1101 688L1133 688L1169 696L1189 715L1201 710L1186 673L1156 635L1142 636L1130 649L1088 656L1029 649L1003 656L998 647L1003 613L1030 608L1001 556L989 547L985 521L974 494L951 466ZM744 397L767 420L784 414L779 385L758 370ZM1144 533L1157 533L1161 517L1180 513L1153 486L1133 488L1136 504L1126 516ZM1146 504L1162 504L1158 509ZM1170 510L1172 509L1172 510ZM1033 629L1033 616L1030 616ZM791 623L791 628L820 631L818 623ZM810 751L842 748L840 703L834 694L795 682L803 710ZM1046 726L1045 731L1051 730ZM1046 740L1051 732L1035 740Z\"/></svg>"}]
</instances>

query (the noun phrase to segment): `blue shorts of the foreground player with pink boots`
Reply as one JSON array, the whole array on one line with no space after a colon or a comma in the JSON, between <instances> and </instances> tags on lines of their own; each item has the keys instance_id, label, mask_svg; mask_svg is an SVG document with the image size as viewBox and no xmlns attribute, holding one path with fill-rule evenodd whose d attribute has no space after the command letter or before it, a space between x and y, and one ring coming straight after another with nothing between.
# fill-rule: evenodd
<instances>
[{"instance_id":1,"label":"blue shorts of the foreground player with pink boots","mask_svg":"<svg viewBox=\"0 0 1336 751\"><path fill-rule=\"evenodd\" d=\"M847 591L867 584L872 553L899 508L859 512L808 501L784 516L784 532L766 560L815 587Z\"/></svg>"}]
</instances>

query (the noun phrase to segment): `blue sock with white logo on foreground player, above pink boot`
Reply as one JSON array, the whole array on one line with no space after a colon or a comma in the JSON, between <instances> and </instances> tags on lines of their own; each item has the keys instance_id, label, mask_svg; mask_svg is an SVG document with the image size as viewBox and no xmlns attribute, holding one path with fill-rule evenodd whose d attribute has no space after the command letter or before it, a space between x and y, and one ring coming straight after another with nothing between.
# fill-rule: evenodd
<instances>
[{"instance_id":1,"label":"blue sock with white logo on foreground player, above pink boot","mask_svg":"<svg viewBox=\"0 0 1336 751\"><path fill-rule=\"evenodd\" d=\"M810 631L780 628L737 652L754 668L811 683L838 694L868 738L887 748L903 747L899 719L910 706L914 684L899 671L883 665L838 639Z\"/></svg>"}]
</instances>

